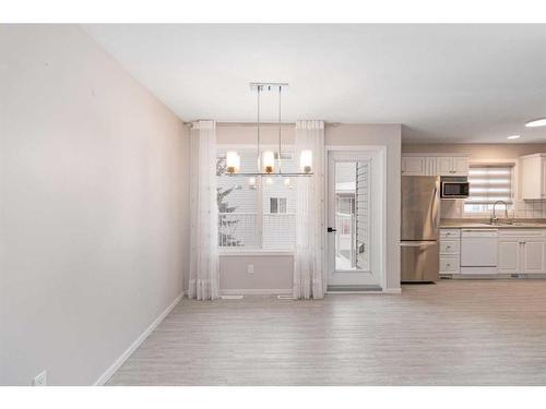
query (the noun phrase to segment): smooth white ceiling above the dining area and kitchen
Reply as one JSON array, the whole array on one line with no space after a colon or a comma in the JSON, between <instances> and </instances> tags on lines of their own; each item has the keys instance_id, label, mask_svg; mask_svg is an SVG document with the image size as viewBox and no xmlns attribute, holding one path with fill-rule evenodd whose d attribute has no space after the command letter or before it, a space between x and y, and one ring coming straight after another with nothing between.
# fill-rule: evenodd
<instances>
[{"instance_id":1,"label":"smooth white ceiling above the dining area and kitchen","mask_svg":"<svg viewBox=\"0 0 546 409\"><path fill-rule=\"evenodd\" d=\"M404 142L546 142L546 25L84 25L183 120L403 123ZM276 96L263 100L275 119Z\"/></svg>"}]
</instances>

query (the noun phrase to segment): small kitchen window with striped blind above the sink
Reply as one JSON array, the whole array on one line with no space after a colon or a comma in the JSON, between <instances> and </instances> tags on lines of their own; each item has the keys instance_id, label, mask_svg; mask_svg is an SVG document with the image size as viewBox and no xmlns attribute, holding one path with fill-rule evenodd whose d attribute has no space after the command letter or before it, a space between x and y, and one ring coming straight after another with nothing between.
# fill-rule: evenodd
<instances>
[{"instance_id":1,"label":"small kitchen window with striped blind above the sink","mask_svg":"<svg viewBox=\"0 0 546 409\"><path fill-rule=\"evenodd\" d=\"M513 165L471 165L470 197L464 201L464 213L490 213L497 201L512 204Z\"/></svg>"}]
</instances>

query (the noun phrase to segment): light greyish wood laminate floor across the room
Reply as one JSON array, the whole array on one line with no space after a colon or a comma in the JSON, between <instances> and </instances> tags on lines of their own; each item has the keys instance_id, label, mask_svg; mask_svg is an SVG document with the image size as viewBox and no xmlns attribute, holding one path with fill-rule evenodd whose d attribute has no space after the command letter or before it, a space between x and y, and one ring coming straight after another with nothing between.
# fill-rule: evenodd
<instances>
[{"instance_id":1,"label":"light greyish wood laminate floor across the room","mask_svg":"<svg viewBox=\"0 0 546 409\"><path fill-rule=\"evenodd\" d=\"M182 300L109 385L546 385L546 280Z\"/></svg>"}]
</instances>

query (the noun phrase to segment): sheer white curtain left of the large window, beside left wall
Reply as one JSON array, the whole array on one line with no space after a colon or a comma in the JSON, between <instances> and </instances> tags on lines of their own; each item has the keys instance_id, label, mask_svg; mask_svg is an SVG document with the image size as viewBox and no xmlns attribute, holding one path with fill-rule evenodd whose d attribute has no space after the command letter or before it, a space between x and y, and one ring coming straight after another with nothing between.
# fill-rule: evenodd
<instances>
[{"instance_id":1,"label":"sheer white curtain left of the large window, beside left wall","mask_svg":"<svg viewBox=\"0 0 546 409\"><path fill-rule=\"evenodd\" d=\"M189 298L218 298L218 206L216 202L216 123L199 121L191 130Z\"/></svg>"}]
</instances>

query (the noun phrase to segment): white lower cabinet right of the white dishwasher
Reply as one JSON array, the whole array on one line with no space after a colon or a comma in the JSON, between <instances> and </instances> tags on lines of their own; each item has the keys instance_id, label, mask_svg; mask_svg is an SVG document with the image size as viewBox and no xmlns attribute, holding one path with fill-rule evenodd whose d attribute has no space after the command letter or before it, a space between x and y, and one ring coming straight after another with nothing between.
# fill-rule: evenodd
<instances>
[{"instance_id":1,"label":"white lower cabinet right of the white dishwasher","mask_svg":"<svg viewBox=\"0 0 546 409\"><path fill-rule=\"evenodd\" d=\"M546 274L544 230L501 230L499 274Z\"/></svg>"}]
</instances>

